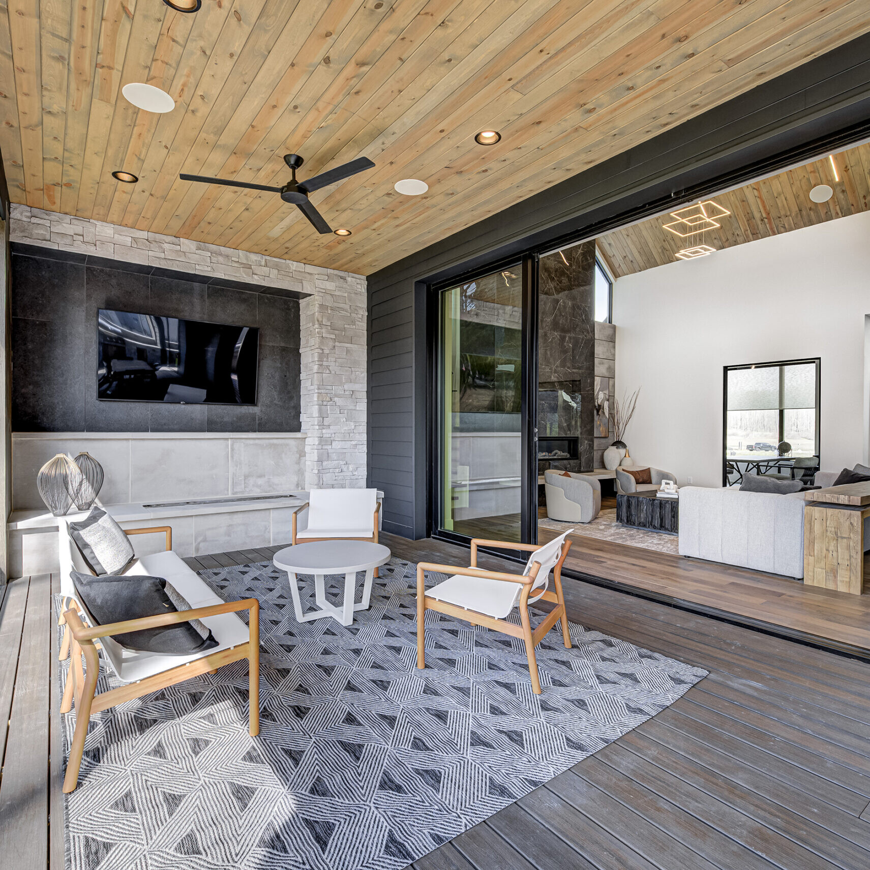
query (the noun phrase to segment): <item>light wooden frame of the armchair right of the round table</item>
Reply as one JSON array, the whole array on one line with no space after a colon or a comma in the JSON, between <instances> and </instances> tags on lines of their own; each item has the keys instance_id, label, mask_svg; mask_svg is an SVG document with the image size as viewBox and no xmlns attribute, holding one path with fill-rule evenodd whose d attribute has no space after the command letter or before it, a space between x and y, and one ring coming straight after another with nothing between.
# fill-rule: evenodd
<instances>
[{"instance_id":1,"label":"light wooden frame of the armchair right of the round table","mask_svg":"<svg viewBox=\"0 0 870 870\"><path fill-rule=\"evenodd\" d=\"M437 565L433 562L420 562L417 566L417 666L418 668L425 667L424 649L425 649L425 612L427 610L435 610L439 613L446 613L448 616L455 616L457 619L464 619L470 622L472 626L486 626L492 628L493 631L510 634L515 638L522 638L525 641L525 655L529 660L529 676L532 678L532 692L536 695L541 693L541 684L538 673L538 662L535 659L535 647L539 645L541 639L550 631L552 626L555 626L561 619L562 622L562 639L566 649L571 649L571 634L568 631L568 617L565 607L565 596L562 593L562 565L565 563L565 557L571 549L571 541L566 540L562 545L562 553L559 556L559 561L552 568L553 586L555 592L549 589L531 602L536 605L538 601L549 601L556 606L547 615L546 619L532 631L532 623L529 619L529 595L532 593L532 584L538 576L540 565L538 562L532 563L532 570L528 574L510 574L500 571L485 571L478 568L478 546L487 546L497 548L499 550L522 550L524 552L535 552L540 549L537 544L514 544L506 541L492 541L483 538L472 539L472 559L471 567L460 568L450 565ZM484 577L491 580L503 580L505 583L521 583L523 585L522 592L519 593L519 621L520 625L516 626L512 622L507 622L505 619L496 619L492 616L486 616L484 613L465 610L465 607L459 607L454 604L448 604L445 601L430 598L425 594L425 572L437 571L444 574L464 574L467 577Z\"/></svg>"}]
</instances>

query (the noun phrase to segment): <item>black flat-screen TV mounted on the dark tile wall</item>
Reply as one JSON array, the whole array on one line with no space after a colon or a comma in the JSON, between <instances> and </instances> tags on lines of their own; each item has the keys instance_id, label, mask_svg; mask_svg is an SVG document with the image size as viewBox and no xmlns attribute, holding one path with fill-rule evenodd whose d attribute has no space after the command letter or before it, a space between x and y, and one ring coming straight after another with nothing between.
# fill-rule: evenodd
<instances>
[{"instance_id":1,"label":"black flat-screen TV mounted on the dark tile wall","mask_svg":"<svg viewBox=\"0 0 870 870\"><path fill-rule=\"evenodd\" d=\"M97 398L256 405L259 330L101 308Z\"/></svg>"}]
</instances>

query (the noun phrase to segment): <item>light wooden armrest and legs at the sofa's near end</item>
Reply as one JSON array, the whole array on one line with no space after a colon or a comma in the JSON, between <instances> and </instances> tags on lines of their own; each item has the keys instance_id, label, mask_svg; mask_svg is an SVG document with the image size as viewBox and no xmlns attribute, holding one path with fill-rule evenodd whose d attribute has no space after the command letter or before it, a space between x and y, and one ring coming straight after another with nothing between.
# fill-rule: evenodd
<instances>
[{"instance_id":1,"label":"light wooden armrest and legs at the sofa's near end","mask_svg":"<svg viewBox=\"0 0 870 870\"><path fill-rule=\"evenodd\" d=\"M179 622L190 622L191 619L204 619L217 616L219 613L231 613L240 610L251 612L248 624L248 639L238 646L230 646L217 653L204 655L202 659L185 662L184 665L170 668L151 677L139 679L135 683L125 683L109 692L95 694L97 677L100 672L100 660L94 641L97 638L108 637L110 634L137 632L144 628L172 626ZM260 732L260 606L257 599L242 599L215 604L207 607L197 607L194 610L184 610L175 613L158 613L157 616L146 616L143 619L128 619L125 622L114 622L106 626L88 628L84 626L78 612L70 608L64 613L66 625L72 634L70 642L70 673L64 687L64 699L60 712L69 713L73 701L76 704L76 730L70 744L70 759L67 761L64 777L64 793L75 791L78 784L78 771L82 764L84 739L88 733L91 713L99 713L109 707L123 704L134 698L141 698L166 686L174 686L185 679L197 677L202 673L214 673L218 667L228 665L231 661L248 659L249 679L249 720L248 731L251 737ZM84 655L84 668L82 656Z\"/></svg>"}]
</instances>

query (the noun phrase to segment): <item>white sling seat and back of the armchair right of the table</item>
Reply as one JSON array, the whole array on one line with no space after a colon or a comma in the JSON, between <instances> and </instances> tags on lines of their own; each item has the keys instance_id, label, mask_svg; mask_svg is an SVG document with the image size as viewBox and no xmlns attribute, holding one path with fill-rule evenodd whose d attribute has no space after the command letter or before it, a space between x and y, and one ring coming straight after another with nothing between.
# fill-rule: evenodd
<instances>
[{"instance_id":1,"label":"white sling seat and back of the armchair right of the table","mask_svg":"<svg viewBox=\"0 0 870 870\"><path fill-rule=\"evenodd\" d=\"M525 563L524 575L532 570L534 562L538 562L540 565L538 576L532 586L530 603L539 599L546 591L550 572L561 556L562 544L565 542L566 536L573 531L571 529L570 532L565 532L565 534L559 535L559 538L554 538L548 544L539 547ZM508 545L505 544L505 546ZM535 594L537 590L540 592ZM426 595L437 601L444 601L445 604L453 604L463 607L465 610L484 613L495 619L505 619L508 613L517 606L522 591L523 585L521 583L454 574L442 583L438 583L437 586L427 589Z\"/></svg>"}]
</instances>

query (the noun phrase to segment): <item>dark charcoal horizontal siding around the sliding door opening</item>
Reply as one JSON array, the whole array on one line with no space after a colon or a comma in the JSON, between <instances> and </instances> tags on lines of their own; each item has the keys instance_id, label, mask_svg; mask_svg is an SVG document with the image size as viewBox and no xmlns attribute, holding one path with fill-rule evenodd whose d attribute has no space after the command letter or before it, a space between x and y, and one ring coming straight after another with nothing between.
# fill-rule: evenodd
<instances>
[{"instance_id":1,"label":"dark charcoal horizontal siding around the sliding door opening","mask_svg":"<svg viewBox=\"0 0 870 870\"><path fill-rule=\"evenodd\" d=\"M412 459L369 463L370 485L386 495L385 529L410 538L428 532L425 282L579 233L599 235L666 204L774 171L800 159L801 149L814 156L813 143L833 148L868 131L870 35L370 275L369 456Z\"/></svg>"}]
</instances>

